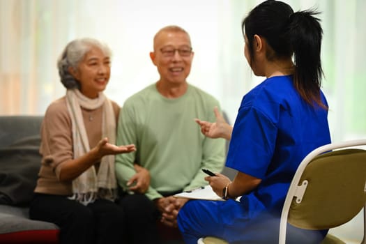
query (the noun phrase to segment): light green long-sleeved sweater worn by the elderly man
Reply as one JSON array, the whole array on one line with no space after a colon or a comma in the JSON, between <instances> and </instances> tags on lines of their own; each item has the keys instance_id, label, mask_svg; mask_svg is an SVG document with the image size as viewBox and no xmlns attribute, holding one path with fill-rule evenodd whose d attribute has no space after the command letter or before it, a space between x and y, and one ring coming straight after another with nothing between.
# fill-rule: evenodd
<instances>
[{"instance_id":1,"label":"light green long-sleeved sweater worn by the elderly man","mask_svg":"<svg viewBox=\"0 0 366 244\"><path fill-rule=\"evenodd\" d=\"M159 192L207 185L201 169L222 170L224 139L205 137L194 119L214 122L215 106L218 100L192 85L180 98L163 97L155 84L128 98L119 115L116 143L135 144L137 151L116 156L119 185L127 190L134 162L150 171L149 199L162 197Z\"/></svg>"}]
</instances>

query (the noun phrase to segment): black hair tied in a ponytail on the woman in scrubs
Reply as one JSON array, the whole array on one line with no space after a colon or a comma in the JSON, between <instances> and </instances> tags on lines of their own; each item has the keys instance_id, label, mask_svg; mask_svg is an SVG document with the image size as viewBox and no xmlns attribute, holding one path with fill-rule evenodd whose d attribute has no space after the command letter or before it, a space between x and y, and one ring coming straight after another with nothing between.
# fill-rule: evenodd
<instances>
[{"instance_id":1,"label":"black hair tied in a ponytail on the woman in scrubs","mask_svg":"<svg viewBox=\"0 0 366 244\"><path fill-rule=\"evenodd\" d=\"M320 97L323 30L320 20L313 16L317 14L314 10L293 13L287 3L268 0L250 11L242 22L242 31L247 36L250 61L254 54L254 35L265 38L270 45L272 51L266 54L268 60L289 58L293 55L293 82L296 90L310 105L317 104L326 109Z\"/></svg>"}]
</instances>

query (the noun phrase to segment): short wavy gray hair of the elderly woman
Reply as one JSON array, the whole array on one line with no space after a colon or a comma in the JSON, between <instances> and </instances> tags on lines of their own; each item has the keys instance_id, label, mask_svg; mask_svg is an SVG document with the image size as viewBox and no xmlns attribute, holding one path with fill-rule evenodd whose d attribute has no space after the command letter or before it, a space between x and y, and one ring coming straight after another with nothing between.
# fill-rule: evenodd
<instances>
[{"instance_id":1,"label":"short wavy gray hair of the elderly woman","mask_svg":"<svg viewBox=\"0 0 366 244\"><path fill-rule=\"evenodd\" d=\"M81 38L72 40L61 53L59 60L57 61L57 68L59 68L59 75L61 83L66 89L79 89L79 82L70 74L68 68L73 67L75 70L80 61L84 58L85 54L89 52L92 47L98 47L102 52L111 57L111 49L104 43L100 43L93 38Z\"/></svg>"}]
</instances>

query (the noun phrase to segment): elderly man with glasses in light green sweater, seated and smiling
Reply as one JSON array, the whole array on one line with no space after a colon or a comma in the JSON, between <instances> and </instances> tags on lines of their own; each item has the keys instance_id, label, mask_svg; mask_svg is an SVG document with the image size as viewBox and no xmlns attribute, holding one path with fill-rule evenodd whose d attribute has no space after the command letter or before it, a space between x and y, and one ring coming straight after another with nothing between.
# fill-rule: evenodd
<instances>
[{"instance_id":1,"label":"elderly man with glasses in light green sweater, seated and smiling","mask_svg":"<svg viewBox=\"0 0 366 244\"><path fill-rule=\"evenodd\" d=\"M207 185L202 168L221 171L224 166L224 139L204 137L194 120L215 121L213 109L219 102L188 84L193 56L187 31L179 26L160 29L150 53L160 79L128 98L121 109L117 144L137 147L135 153L116 158L131 243L159 243L156 220L176 227L178 211L188 201L172 195ZM134 164L147 169L151 178L139 174Z\"/></svg>"}]
</instances>

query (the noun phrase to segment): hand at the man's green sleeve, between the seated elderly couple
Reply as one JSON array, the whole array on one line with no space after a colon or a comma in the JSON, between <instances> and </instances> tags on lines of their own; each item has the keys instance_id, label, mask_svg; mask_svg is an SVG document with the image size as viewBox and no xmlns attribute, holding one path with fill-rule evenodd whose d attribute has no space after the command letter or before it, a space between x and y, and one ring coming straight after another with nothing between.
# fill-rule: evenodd
<instances>
[{"instance_id":1,"label":"hand at the man's green sleeve, between the seated elderly couple","mask_svg":"<svg viewBox=\"0 0 366 244\"><path fill-rule=\"evenodd\" d=\"M133 167L136 170L136 174L130 178L130 180L127 182L127 186L135 183L135 185L131 186L129 190L144 194L150 185L150 173L147 169L140 165L134 164Z\"/></svg>"}]
</instances>

